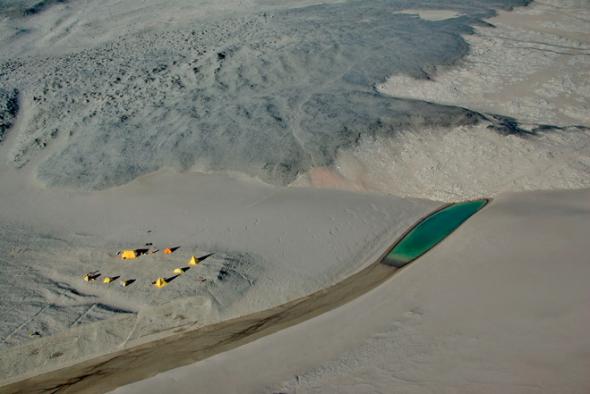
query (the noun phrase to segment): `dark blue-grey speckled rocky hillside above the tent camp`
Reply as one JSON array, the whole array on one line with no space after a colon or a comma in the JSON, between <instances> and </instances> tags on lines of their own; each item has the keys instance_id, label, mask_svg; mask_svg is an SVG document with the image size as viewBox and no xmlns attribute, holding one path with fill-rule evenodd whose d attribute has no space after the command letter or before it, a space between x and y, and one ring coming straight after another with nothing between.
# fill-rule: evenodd
<instances>
[{"instance_id":1,"label":"dark blue-grey speckled rocky hillside above the tent camp","mask_svg":"<svg viewBox=\"0 0 590 394\"><path fill-rule=\"evenodd\" d=\"M180 2L158 19L175 23L159 27L152 3L129 6L143 13L141 30L110 20L110 3L102 11L58 4L3 21L0 89L16 89L20 103L5 160L33 163L47 185L85 189L161 167L288 184L332 165L363 136L477 122L470 111L386 97L374 85L454 63L468 51L462 34L471 25L523 1L441 1L437 8L463 15L442 21L398 13L397 1L292 9L229 2L231 11L199 13ZM115 30L98 45L89 40L104 39L97 20Z\"/></svg>"}]
</instances>

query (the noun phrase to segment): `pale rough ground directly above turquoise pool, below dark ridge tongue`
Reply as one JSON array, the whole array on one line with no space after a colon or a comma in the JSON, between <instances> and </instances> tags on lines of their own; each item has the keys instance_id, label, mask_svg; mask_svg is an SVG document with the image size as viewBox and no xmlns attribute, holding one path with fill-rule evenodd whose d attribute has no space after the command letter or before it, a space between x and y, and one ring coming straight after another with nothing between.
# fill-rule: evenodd
<instances>
[{"instance_id":1,"label":"pale rough ground directly above turquoise pool, below dark ridge tongue","mask_svg":"<svg viewBox=\"0 0 590 394\"><path fill-rule=\"evenodd\" d=\"M339 152L335 168L312 169L298 184L454 201L590 187L589 172L589 129L502 135L483 123L363 138Z\"/></svg>"}]
</instances>

